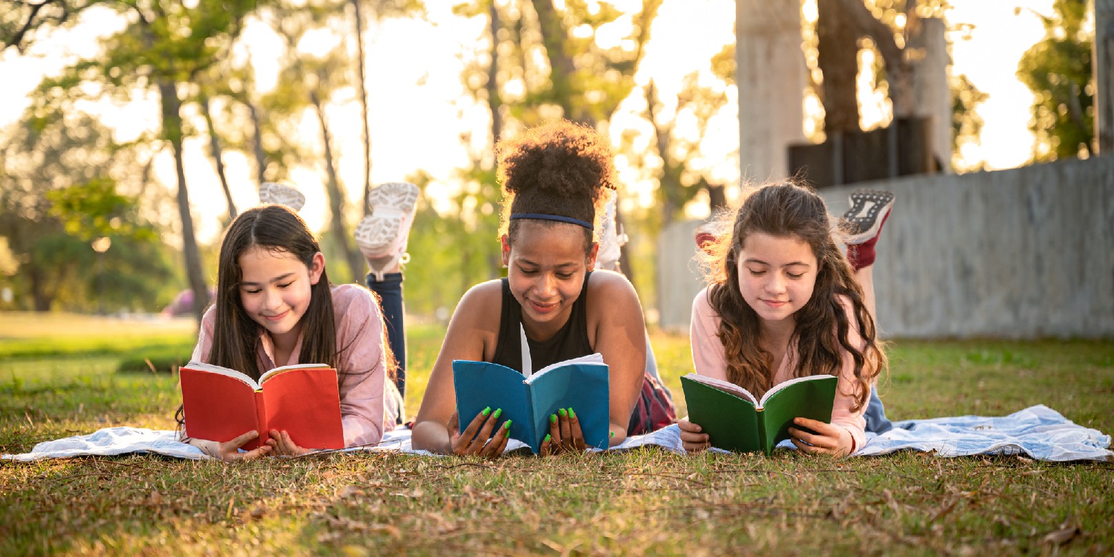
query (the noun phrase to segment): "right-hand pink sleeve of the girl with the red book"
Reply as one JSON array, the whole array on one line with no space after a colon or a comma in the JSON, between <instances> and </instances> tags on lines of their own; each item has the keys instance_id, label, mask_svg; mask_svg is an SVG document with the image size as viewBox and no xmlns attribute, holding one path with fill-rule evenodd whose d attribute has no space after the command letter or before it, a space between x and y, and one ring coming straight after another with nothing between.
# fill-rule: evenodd
<instances>
[{"instance_id":1,"label":"right-hand pink sleeve of the girl with the red book","mask_svg":"<svg viewBox=\"0 0 1114 557\"><path fill-rule=\"evenodd\" d=\"M344 446L378 442L383 438L387 405L387 359L383 317L371 291L355 284L333 290L336 322L336 372L340 381Z\"/></svg>"}]
</instances>

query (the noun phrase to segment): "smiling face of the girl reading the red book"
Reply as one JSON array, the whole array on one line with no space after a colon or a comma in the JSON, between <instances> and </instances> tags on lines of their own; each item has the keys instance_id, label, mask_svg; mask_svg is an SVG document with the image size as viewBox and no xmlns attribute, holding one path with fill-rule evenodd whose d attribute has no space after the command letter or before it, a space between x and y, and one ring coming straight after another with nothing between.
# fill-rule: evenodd
<instances>
[{"instance_id":1,"label":"smiling face of the girl reading the red book","mask_svg":"<svg viewBox=\"0 0 1114 557\"><path fill-rule=\"evenodd\" d=\"M290 252L252 246L240 256L244 311L276 343L296 340L302 315L310 307L311 289L324 268L325 257L320 252L313 256L312 267L306 267Z\"/></svg>"}]
</instances>

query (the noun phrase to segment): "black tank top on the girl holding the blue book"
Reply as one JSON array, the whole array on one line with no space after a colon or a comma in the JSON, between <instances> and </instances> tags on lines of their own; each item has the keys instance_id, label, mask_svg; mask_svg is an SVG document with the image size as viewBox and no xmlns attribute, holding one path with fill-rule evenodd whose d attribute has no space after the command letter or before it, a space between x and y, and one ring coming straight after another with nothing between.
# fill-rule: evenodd
<instances>
[{"instance_id":1,"label":"black tank top on the girl holding the blue book","mask_svg":"<svg viewBox=\"0 0 1114 557\"><path fill-rule=\"evenodd\" d=\"M565 326L547 341L538 342L526 339L530 345L530 361L534 371L551 363L570 358L579 358L593 353L588 342L588 278L589 271L584 276L580 296L573 302L573 311ZM499 319L499 341L495 348L494 363L506 365L519 372L522 371L522 348L519 326L522 322L522 306L510 293L510 284L502 280L502 316Z\"/></svg>"}]
</instances>

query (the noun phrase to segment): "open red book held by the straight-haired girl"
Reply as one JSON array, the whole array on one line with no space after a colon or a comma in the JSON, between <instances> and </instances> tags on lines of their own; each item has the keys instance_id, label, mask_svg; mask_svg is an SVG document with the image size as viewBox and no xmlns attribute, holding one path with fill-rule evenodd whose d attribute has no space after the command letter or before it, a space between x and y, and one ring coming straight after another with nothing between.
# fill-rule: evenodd
<instances>
[{"instance_id":1,"label":"open red book held by the straight-haired girl","mask_svg":"<svg viewBox=\"0 0 1114 557\"><path fill-rule=\"evenodd\" d=\"M183 365L179 374L188 437L229 441L255 430L260 437L243 447L251 450L275 429L305 449L344 448L336 370L325 364L275 368L258 381L202 362Z\"/></svg>"}]
</instances>

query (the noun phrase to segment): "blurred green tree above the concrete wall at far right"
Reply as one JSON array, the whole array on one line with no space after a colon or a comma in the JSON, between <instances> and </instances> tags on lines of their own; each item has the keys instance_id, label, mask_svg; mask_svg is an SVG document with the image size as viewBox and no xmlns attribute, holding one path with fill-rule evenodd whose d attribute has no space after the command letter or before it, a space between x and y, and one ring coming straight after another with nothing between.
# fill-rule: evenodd
<instances>
[{"instance_id":1,"label":"blurred green tree above the concrete wall at far right","mask_svg":"<svg viewBox=\"0 0 1114 557\"><path fill-rule=\"evenodd\" d=\"M1094 31L1084 28L1086 0L1055 0L1042 16L1045 38L1022 56L1017 78L1036 99L1029 129L1037 137L1034 162L1094 155L1095 109L1091 48Z\"/></svg>"}]
</instances>

